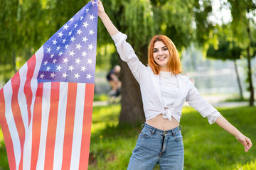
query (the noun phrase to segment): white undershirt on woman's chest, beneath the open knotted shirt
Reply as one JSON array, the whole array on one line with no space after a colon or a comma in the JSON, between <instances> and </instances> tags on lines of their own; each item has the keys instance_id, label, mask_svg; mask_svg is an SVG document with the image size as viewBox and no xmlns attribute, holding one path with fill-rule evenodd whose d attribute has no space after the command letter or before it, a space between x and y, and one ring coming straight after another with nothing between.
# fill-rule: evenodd
<instances>
[{"instance_id":1,"label":"white undershirt on woman's chest, beneath the open knotted shirt","mask_svg":"<svg viewBox=\"0 0 256 170\"><path fill-rule=\"evenodd\" d=\"M164 108L169 108L178 98L178 79L171 72L160 72L159 85Z\"/></svg>"}]
</instances>

